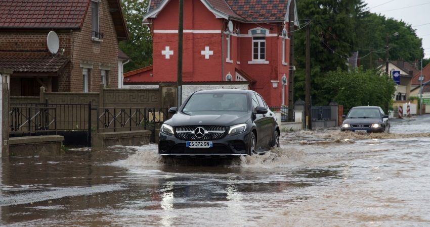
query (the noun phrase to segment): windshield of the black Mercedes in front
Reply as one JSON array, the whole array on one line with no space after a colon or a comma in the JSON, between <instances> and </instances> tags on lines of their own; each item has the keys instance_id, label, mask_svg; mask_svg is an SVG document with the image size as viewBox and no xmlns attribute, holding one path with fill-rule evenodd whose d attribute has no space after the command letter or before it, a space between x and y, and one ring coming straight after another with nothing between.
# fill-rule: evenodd
<instances>
[{"instance_id":1,"label":"windshield of the black Mercedes in front","mask_svg":"<svg viewBox=\"0 0 430 227\"><path fill-rule=\"evenodd\" d=\"M193 94L182 109L187 115L222 115L248 111L246 94L202 93Z\"/></svg>"}]
</instances>

